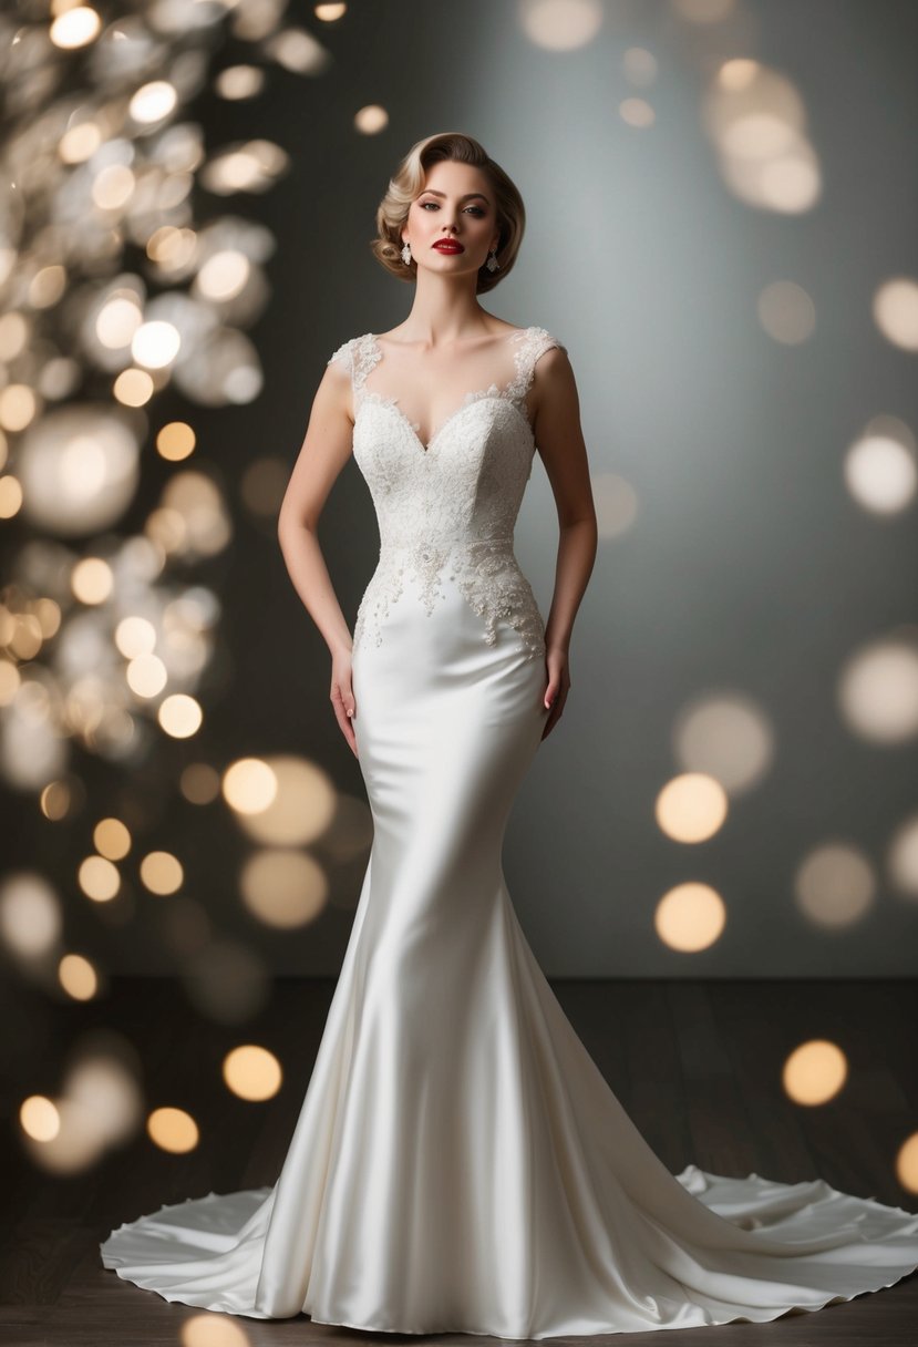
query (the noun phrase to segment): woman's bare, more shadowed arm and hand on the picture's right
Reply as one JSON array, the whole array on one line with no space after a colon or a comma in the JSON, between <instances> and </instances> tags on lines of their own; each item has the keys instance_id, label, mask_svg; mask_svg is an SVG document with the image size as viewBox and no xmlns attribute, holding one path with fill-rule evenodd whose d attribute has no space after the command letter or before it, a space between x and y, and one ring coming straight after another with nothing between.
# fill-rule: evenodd
<instances>
[{"instance_id":1,"label":"woman's bare, more shadowed arm and hand on the picture's right","mask_svg":"<svg viewBox=\"0 0 918 1347\"><path fill-rule=\"evenodd\" d=\"M552 707L545 738L560 718L571 687L571 633L596 559L598 527L577 387L565 352L552 348L538 360L534 392L536 445L555 493L560 528L555 593L545 624L545 704Z\"/></svg>"}]
</instances>

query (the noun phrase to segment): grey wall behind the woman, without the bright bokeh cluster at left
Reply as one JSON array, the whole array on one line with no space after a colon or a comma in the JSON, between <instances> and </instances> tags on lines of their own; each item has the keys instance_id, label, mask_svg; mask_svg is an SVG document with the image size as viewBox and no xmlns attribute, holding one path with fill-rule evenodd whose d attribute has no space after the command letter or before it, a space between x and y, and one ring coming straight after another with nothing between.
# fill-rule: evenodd
<instances>
[{"instance_id":1,"label":"grey wall behind the woman, without the bright bokeh cluster at left","mask_svg":"<svg viewBox=\"0 0 918 1347\"><path fill-rule=\"evenodd\" d=\"M292 156L272 194L240 207L276 236L273 295L252 334L264 391L238 409L191 416L179 395L168 408L194 420L199 463L234 513L232 546L202 568L223 605L201 694L206 730L129 772L77 756L86 801L63 827L40 818L34 796L5 793L8 866L52 878L70 943L101 967L174 970L170 923L203 911L214 936L269 971L338 971L366 846L346 861L322 841L311 847L327 869L327 905L299 929L267 929L238 894L252 843L219 799L190 807L175 780L188 761L222 769L293 753L365 799L328 703L324 643L271 519L246 512L240 481L257 458L275 459L279 501L331 352L405 315L411 290L369 252L376 205L415 140L462 129L513 175L529 214L513 275L483 304L567 345L603 531L567 711L507 832L505 872L537 958L559 977L915 971L914 488L880 515L857 498L845 463L878 424L901 446L895 471L907 478L902 463L914 461L915 350L883 330L875 299L892 277L914 286L918 275L918 9L746 0L705 24L664 0L599 9L592 40L567 51L533 40L533 12L509 0L468 0L458 16L446 4L376 0L328 31L306 12L334 58L320 75L275 71L250 104L198 100L210 140L257 135ZM656 74L645 79L633 48L651 54ZM730 176L708 109L717 67L743 57L766 71L766 110L771 73L800 100L796 131L818 179L804 209L756 203ZM388 125L359 133L355 113L377 102ZM653 124L634 125L645 105ZM782 299L769 290L777 283L800 290ZM797 321L800 339L785 339ZM883 466L866 463L870 485ZM147 506L160 486L143 484ZM320 532L353 622L378 548L353 461ZM556 537L537 459L517 555L545 613ZM888 710L891 683L872 665L851 692L868 719L892 723L878 737L847 709L845 671L886 640L899 643L901 709ZM720 699L739 702L739 721L717 719ZM708 702L707 722L686 719ZM739 773L726 820L707 841L676 841L657 822L657 797L705 761ZM180 894L151 898L129 867L120 904L79 894L75 867L108 814L133 820L140 850L182 858ZM689 881L711 885L727 917L695 954L654 928L661 898Z\"/></svg>"}]
</instances>

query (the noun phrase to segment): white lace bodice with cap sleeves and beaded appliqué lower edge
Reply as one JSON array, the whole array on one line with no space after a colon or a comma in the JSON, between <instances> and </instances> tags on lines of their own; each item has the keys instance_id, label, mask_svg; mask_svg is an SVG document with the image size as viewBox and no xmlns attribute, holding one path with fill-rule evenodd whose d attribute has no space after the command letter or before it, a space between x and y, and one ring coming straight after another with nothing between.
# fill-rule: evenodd
<instances>
[{"instance_id":1,"label":"white lace bodice with cap sleeves and beaded appliqu\u00e9 lower edge","mask_svg":"<svg viewBox=\"0 0 918 1347\"><path fill-rule=\"evenodd\" d=\"M545 626L514 556L513 531L536 449L526 395L538 357L564 348L544 327L520 329L509 342L509 381L466 393L428 445L397 397L365 387L382 360L373 333L351 337L328 361L351 377L354 458L380 525L380 560L357 612L354 648L365 637L382 643L389 607L411 575L428 614L448 578L482 617L487 644L503 620L520 651L544 655Z\"/></svg>"}]
</instances>

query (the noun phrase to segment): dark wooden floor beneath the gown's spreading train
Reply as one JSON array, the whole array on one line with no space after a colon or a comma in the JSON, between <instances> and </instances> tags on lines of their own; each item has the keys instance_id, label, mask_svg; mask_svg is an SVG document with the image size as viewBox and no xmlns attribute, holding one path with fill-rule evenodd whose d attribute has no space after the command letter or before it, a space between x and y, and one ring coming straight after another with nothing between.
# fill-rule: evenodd
<instances>
[{"instance_id":1,"label":"dark wooden floor beneath the gown's spreading train","mask_svg":"<svg viewBox=\"0 0 918 1347\"><path fill-rule=\"evenodd\" d=\"M918 1129L918 986L910 982L555 982L556 994L606 1079L657 1154L677 1172L703 1169L836 1188L918 1210L895 1179L902 1141ZM5 1030L3 1114L15 1119L28 1094L55 1094L73 1043L110 1026L139 1051L149 1109L187 1109L201 1145L186 1156L157 1150L140 1131L79 1176L39 1172L15 1121L3 1138L0 1343L62 1347L261 1347L291 1343L417 1343L427 1338L312 1325L307 1316L258 1321L207 1316L206 1338L188 1335L201 1312L141 1290L98 1261L98 1242L122 1220L205 1192L272 1184L308 1084L334 982L279 982L265 1010L244 1028L214 1026L180 986L124 979L89 1005L51 1005L0 987ZM831 1103L805 1109L781 1090L781 1067L801 1041L826 1037L851 1074ZM284 1065L265 1103L232 1096L221 1079L238 1043L271 1048ZM495 1339L433 1335L431 1342ZM915 1347L918 1274L817 1313L770 1324L666 1329L660 1347ZM647 1347L646 1334L552 1339Z\"/></svg>"}]
</instances>

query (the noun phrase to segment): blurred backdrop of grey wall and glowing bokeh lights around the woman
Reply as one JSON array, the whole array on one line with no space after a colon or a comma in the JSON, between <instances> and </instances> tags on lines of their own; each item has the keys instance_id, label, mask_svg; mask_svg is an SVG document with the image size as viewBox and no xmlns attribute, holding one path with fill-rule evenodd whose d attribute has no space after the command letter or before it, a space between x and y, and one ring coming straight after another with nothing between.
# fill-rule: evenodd
<instances>
[{"instance_id":1,"label":"blurred backdrop of grey wall and glowing bokeh lights around the woman","mask_svg":"<svg viewBox=\"0 0 918 1347\"><path fill-rule=\"evenodd\" d=\"M372 820L276 515L332 350L411 306L369 245L435 132L522 191L485 307L565 343L599 515L506 841L540 963L914 977L917 43L911 0L3 11L0 995L31 1162L83 1172L144 1119L194 1149L139 1083L156 1008L264 1100L285 1064L250 1026L341 966ZM353 622L353 461L320 537ZM537 461L544 613L556 537ZM160 986L125 1010L132 978ZM828 1099L844 1045L804 1039L783 1088Z\"/></svg>"}]
</instances>

